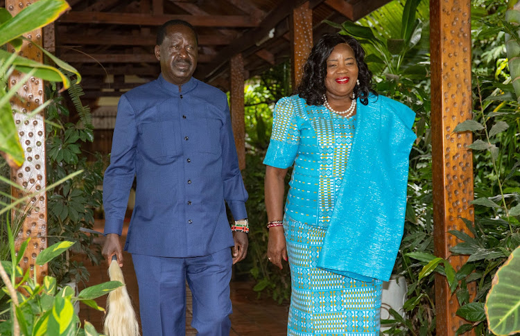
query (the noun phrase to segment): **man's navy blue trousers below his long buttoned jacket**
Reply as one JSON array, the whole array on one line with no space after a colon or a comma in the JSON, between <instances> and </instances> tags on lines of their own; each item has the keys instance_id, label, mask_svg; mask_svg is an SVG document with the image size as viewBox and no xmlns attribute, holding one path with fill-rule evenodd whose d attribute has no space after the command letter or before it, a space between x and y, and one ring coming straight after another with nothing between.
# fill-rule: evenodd
<instances>
[{"instance_id":1,"label":"man's navy blue trousers below his long buttoned jacket","mask_svg":"<svg viewBox=\"0 0 520 336\"><path fill-rule=\"evenodd\" d=\"M198 335L229 335L232 313L229 248L193 258L132 254L132 260L139 285L143 336L186 334L186 281L193 298L191 326Z\"/></svg>"}]
</instances>

